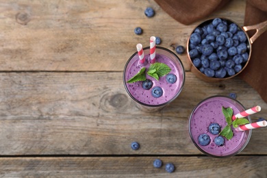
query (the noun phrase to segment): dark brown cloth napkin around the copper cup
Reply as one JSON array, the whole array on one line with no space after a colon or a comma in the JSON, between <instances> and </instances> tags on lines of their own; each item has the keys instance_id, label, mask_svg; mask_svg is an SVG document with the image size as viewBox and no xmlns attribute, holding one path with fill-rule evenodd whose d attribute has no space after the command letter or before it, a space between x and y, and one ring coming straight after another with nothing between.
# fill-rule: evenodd
<instances>
[{"instance_id":1,"label":"dark brown cloth napkin around the copper cup","mask_svg":"<svg viewBox=\"0 0 267 178\"><path fill-rule=\"evenodd\" d=\"M160 7L176 21L189 25L215 10L223 8L229 0L155 0ZM267 1L247 0L244 25L255 25L267 21ZM255 31L248 31L253 36ZM267 31L252 44L251 59L240 77L251 85L267 103Z\"/></svg>"}]
</instances>

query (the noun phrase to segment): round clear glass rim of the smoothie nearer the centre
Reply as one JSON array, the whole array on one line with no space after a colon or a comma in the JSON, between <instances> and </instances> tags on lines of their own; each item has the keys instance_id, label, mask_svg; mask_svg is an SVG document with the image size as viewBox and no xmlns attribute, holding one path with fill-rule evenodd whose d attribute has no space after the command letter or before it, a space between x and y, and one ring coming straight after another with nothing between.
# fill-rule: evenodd
<instances>
[{"instance_id":1,"label":"round clear glass rim of the smoothie nearer the centre","mask_svg":"<svg viewBox=\"0 0 267 178\"><path fill-rule=\"evenodd\" d=\"M143 48L143 50L147 50L147 49L150 49L150 47L144 47ZM165 47L156 46L156 49L162 49L162 50L167 51L167 52L169 52L169 53L171 53L172 55L175 56L176 60L179 62L179 64L181 64L181 68L183 69L182 70L183 71L183 81L182 81L181 87L179 88L179 91L177 92L177 94L175 94L175 96L172 99L170 99L169 101L166 101L166 102L161 103L161 104L158 104L158 105L149 105L149 104L146 104L146 103L142 103L141 101L138 101L138 99L136 99L135 97L133 97L133 95L131 94L131 92L129 92L129 90L127 88L127 85L126 85L127 82L125 81L125 71L126 71L126 68L127 68L128 64L129 64L129 62L131 61L131 59L138 54L137 51L135 53L133 53L133 55L131 55L131 57L129 58L129 60L127 60L127 62L125 64L125 67L123 69L123 85L125 86L125 89L126 89L127 93L129 94L129 96L134 101L136 101L140 105L144 105L146 107L161 107L161 106L167 105L168 103L171 103L172 101L174 101L179 96L179 94L181 93L181 90L183 90L183 86L184 86L184 83L186 81L186 71L184 70L183 63L181 62L181 60L178 57L178 55L176 55L173 51L170 51L170 49L166 49Z\"/></svg>"}]
</instances>

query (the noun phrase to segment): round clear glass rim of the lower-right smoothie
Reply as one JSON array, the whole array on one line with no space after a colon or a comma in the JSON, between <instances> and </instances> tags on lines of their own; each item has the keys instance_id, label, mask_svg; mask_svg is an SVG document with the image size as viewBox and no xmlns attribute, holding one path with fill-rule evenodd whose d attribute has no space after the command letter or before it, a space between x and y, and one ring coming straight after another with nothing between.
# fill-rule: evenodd
<instances>
[{"instance_id":1,"label":"round clear glass rim of the lower-right smoothie","mask_svg":"<svg viewBox=\"0 0 267 178\"><path fill-rule=\"evenodd\" d=\"M238 153L240 153L245 147L246 145L249 143L249 140L251 139L251 134L252 134L252 130L249 129L247 130L246 132L248 133L248 136L246 138L246 142L244 142L244 144L242 145L242 147L240 147L240 149L238 149L238 151L235 151L234 153L231 153L229 155L223 155L223 156L219 156L219 155L212 155L210 153L207 153L205 150L201 149L201 147L199 147L198 144L196 144L196 141L194 140L193 136L192 136L192 133L191 133L191 130L190 130L190 122L191 122L191 119L192 119L192 115L194 114L194 111L196 110L197 107L199 107L199 105L201 105L204 101L207 101L209 99L212 99L212 98L216 98L216 97L222 97L222 98L227 98L227 99L231 99L233 101L235 101L236 103L238 103L244 110L246 110L246 108L244 107L244 105L242 105L242 103L240 103L240 101L236 100L236 99L233 99L231 97L228 97L228 96L223 96L223 95L214 95L214 96L211 96L211 97L207 97L203 100L201 100L195 107L194 109L192 110L191 114L190 114L190 117L188 119L188 131L189 131L189 135L190 135L190 138L192 140L192 142L194 143L194 145L196 146L197 149L199 149L199 151L201 151L202 153L204 153L205 155L208 155L210 157L216 157L216 158L227 158L227 157L232 157ZM251 116L246 116L248 119L249 119L249 122L251 123Z\"/></svg>"}]
</instances>

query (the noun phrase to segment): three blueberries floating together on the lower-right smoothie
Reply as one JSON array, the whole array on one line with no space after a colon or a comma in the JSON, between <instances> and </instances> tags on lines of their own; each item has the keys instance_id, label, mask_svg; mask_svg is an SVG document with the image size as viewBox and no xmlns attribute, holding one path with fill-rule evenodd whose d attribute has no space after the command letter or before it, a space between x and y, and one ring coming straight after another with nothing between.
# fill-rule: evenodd
<instances>
[{"instance_id":1,"label":"three blueberries floating together on the lower-right smoothie","mask_svg":"<svg viewBox=\"0 0 267 178\"><path fill-rule=\"evenodd\" d=\"M220 125L218 125L218 123L211 123L209 125L209 133L212 133L212 135L218 135L220 133ZM201 144L202 146L207 146L210 143L211 139L210 137L207 135L207 133L203 133L199 136L199 144ZM216 145L223 146L225 144L225 138L223 138L222 136L217 136L216 138L214 138L214 143Z\"/></svg>"}]
</instances>

